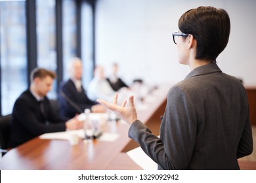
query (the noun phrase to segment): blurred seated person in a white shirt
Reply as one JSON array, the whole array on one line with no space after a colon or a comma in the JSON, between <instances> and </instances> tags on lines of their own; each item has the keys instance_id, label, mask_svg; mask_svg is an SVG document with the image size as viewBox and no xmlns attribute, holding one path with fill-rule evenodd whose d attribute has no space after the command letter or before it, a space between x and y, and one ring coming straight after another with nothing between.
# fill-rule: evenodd
<instances>
[{"instance_id":1,"label":"blurred seated person in a white shirt","mask_svg":"<svg viewBox=\"0 0 256 183\"><path fill-rule=\"evenodd\" d=\"M107 82L104 75L104 67L98 65L95 67L94 78L88 86L88 97L96 101L96 99L104 99L111 101L115 95L115 91Z\"/></svg>"}]
</instances>

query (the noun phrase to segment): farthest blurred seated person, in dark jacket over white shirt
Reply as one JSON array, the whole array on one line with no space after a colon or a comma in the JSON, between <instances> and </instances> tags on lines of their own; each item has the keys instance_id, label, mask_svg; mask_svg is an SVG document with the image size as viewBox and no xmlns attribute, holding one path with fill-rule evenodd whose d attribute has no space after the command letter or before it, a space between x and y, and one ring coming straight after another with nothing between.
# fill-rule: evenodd
<instances>
[{"instance_id":1,"label":"farthest blurred seated person, in dark jacket over white shirt","mask_svg":"<svg viewBox=\"0 0 256 183\"><path fill-rule=\"evenodd\" d=\"M106 78L106 80L110 83L110 86L112 87L113 90L118 91L123 87L129 87L121 78L117 76L117 71L118 71L118 65L117 63L113 63L112 66L112 75L109 78Z\"/></svg>"}]
</instances>

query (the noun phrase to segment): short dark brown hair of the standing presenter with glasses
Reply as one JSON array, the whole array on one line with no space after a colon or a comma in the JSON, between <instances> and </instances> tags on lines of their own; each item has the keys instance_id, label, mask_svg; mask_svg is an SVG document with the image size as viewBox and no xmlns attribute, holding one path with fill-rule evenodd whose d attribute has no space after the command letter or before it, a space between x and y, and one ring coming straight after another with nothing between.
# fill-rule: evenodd
<instances>
[{"instance_id":1,"label":"short dark brown hair of the standing presenter with glasses","mask_svg":"<svg viewBox=\"0 0 256 183\"><path fill-rule=\"evenodd\" d=\"M207 59L215 63L228 44L230 18L221 8L198 7L182 14L179 29L196 39L196 59Z\"/></svg>"}]
</instances>

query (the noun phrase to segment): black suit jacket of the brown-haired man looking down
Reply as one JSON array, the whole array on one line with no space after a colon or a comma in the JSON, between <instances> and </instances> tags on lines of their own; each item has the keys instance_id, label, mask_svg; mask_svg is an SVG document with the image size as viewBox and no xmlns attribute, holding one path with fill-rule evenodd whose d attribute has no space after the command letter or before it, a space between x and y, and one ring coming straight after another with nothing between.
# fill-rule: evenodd
<instances>
[{"instance_id":1,"label":"black suit jacket of the brown-haired man looking down","mask_svg":"<svg viewBox=\"0 0 256 183\"><path fill-rule=\"evenodd\" d=\"M66 120L54 114L49 99L44 97L42 103L45 117L42 116L39 101L35 99L30 90L26 90L16 99L11 119L11 148L43 133L66 130Z\"/></svg>"}]
</instances>

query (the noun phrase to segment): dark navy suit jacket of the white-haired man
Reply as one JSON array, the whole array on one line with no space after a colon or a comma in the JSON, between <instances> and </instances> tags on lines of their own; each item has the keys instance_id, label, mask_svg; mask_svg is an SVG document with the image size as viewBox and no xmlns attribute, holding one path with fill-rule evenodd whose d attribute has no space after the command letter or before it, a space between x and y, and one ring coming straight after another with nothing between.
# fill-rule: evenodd
<instances>
[{"instance_id":1,"label":"dark navy suit jacket of the white-haired man","mask_svg":"<svg viewBox=\"0 0 256 183\"><path fill-rule=\"evenodd\" d=\"M63 92L68 97L68 99L65 99L61 94L59 95L60 114L67 118L73 118L75 114L83 112L85 108L91 108L97 104L87 97L83 86L81 86L81 92L77 92L75 84L71 79L60 84L60 92ZM72 104L69 100L72 101Z\"/></svg>"}]
</instances>

